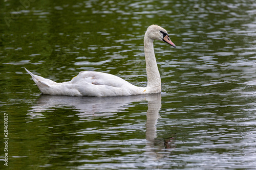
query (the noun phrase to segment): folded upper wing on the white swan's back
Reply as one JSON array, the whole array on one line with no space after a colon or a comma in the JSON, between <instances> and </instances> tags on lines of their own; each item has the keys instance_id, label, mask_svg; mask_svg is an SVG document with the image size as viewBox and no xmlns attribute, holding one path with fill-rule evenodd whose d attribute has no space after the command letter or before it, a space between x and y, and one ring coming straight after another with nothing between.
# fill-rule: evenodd
<instances>
[{"instance_id":1,"label":"folded upper wing on the white swan's back","mask_svg":"<svg viewBox=\"0 0 256 170\"><path fill-rule=\"evenodd\" d=\"M81 71L79 72L79 75L77 75L70 81L70 83L89 83L93 85L104 85L112 87L122 87L128 84L131 85L120 77L97 71Z\"/></svg>"}]
</instances>

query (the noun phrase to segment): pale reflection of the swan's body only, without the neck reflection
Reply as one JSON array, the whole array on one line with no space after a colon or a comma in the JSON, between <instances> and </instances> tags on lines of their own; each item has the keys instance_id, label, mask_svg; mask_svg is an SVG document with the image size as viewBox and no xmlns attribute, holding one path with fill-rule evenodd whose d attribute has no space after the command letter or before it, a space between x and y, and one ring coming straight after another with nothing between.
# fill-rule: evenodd
<instances>
[{"instance_id":1,"label":"pale reflection of the swan's body only, without the neck reflection","mask_svg":"<svg viewBox=\"0 0 256 170\"><path fill-rule=\"evenodd\" d=\"M69 107L76 111L79 117L109 117L124 111L134 102L146 101L155 98L155 96L155 94L152 94L99 98L88 96L40 95L36 101L36 105L28 112L28 115L30 115L30 118L40 118L43 116L42 112L51 111L55 108Z\"/></svg>"}]
</instances>

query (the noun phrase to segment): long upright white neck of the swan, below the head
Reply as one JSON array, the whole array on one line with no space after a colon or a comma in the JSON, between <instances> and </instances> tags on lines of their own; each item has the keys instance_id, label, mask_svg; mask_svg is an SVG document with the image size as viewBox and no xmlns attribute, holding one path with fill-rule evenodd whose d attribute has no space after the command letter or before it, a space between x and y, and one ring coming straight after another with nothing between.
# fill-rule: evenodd
<instances>
[{"instance_id":1,"label":"long upright white neck of the swan, below the head","mask_svg":"<svg viewBox=\"0 0 256 170\"><path fill-rule=\"evenodd\" d=\"M157 67L157 61L154 53L153 39L147 36L144 37L144 51L146 60L147 74L147 89L152 93L161 91L161 78Z\"/></svg>"}]
</instances>

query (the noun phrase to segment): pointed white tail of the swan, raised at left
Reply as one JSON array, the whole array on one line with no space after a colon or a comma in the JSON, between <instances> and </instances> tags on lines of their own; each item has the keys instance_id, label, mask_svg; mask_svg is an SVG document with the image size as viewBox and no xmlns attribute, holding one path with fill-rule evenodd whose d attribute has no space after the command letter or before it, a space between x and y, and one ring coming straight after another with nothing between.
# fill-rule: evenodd
<instances>
[{"instance_id":1,"label":"pointed white tail of the swan, raised at left","mask_svg":"<svg viewBox=\"0 0 256 170\"><path fill-rule=\"evenodd\" d=\"M58 83L56 83L52 80L45 79L41 76L36 76L36 75L32 74L32 72L30 72L27 69L26 69L26 71L30 74L30 76L34 80L35 84L37 85L37 87L39 88L41 93L45 93L46 89L49 89L52 85L57 85L58 84Z\"/></svg>"}]
</instances>

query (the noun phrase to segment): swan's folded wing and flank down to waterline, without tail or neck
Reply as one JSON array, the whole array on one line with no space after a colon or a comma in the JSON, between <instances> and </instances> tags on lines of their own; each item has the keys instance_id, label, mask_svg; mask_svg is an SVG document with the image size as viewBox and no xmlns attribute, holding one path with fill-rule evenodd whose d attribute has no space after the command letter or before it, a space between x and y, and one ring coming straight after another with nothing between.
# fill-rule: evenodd
<instances>
[{"instance_id":1,"label":"swan's folded wing and flank down to waterline, without tail or neck","mask_svg":"<svg viewBox=\"0 0 256 170\"><path fill-rule=\"evenodd\" d=\"M120 77L96 71L81 71L71 81L62 84L87 96L133 95L142 94L144 90Z\"/></svg>"}]
</instances>

